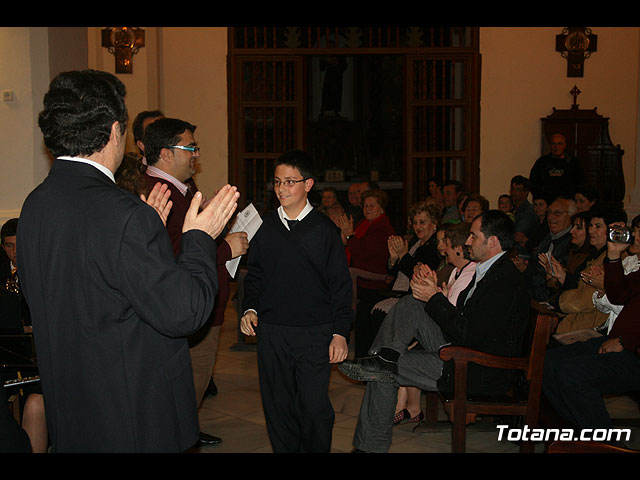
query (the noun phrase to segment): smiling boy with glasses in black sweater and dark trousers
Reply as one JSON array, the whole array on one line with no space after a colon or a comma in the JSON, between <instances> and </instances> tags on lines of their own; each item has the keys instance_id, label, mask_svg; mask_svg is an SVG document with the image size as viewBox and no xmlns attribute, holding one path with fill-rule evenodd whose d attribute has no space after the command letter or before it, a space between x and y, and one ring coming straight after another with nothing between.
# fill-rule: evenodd
<instances>
[{"instance_id":1,"label":"smiling boy with glasses in black sweater and dark trousers","mask_svg":"<svg viewBox=\"0 0 640 480\"><path fill-rule=\"evenodd\" d=\"M275 163L280 207L251 241L241 330L258 337L273 451L328 453L335 416L329 377L331 364L348 353L352 282L340 231L307 199L310 156L293 150Z\"/></svg>"}]
</instances>

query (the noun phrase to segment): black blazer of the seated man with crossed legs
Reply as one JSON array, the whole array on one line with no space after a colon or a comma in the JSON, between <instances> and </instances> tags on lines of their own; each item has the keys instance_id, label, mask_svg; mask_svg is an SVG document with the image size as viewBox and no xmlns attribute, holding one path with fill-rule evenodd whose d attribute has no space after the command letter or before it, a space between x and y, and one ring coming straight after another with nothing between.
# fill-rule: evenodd
<instances>
[{"instance_id":1,"label":"black blazer of the seated man with crossed legs","mask_svg":"<svg viewBox=\"0 0 640 480\"><path fill-rule=\"evenodd\" d=\"M426 312L453 345L494 355L522 355L530 308L522 274L504 254L491 265L465 303L473 283L460 293L455 307L438 293L427 302ZM446 362L438 380L440 391L453 391L453 373L452 361ZM499 395L508 390L512 380L509 370L472 364L467 391L472 395Z\"/></svg>"}]
</instances>

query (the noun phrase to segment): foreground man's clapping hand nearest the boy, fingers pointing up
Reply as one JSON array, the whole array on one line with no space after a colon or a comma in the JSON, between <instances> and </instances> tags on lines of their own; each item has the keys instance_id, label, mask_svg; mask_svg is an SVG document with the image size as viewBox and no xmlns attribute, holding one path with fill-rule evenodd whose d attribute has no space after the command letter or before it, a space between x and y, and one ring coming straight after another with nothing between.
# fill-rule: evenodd
<instances>
[{"instance_id":1,"label":"foreground man's clapping hand nearest the boy, fingers pointing up","mask_svg":"<svg viewBox=\"0 0 640 480\"><path fill-rule=\"evenodd\" d=\"M238 189L231 185L225 185L211 199L205 208L200 212L200 205L203 199L201 192L196 192L191 200L191 205L184 219L182 231L202 230L209 234L211 238L216 238L238 207Z\"/></svg>"}]
</instances>

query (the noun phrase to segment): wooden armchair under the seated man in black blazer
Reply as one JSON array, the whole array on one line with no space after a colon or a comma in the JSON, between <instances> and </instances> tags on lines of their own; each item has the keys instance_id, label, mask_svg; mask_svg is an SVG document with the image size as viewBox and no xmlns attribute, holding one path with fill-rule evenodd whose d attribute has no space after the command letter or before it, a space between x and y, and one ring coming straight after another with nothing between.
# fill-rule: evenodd
<instances>
[{"instance_id":1,"label":"wooden armchair under the seated man in black blazer","mask_svg":"<svg viewBox=\"0 0 640 480\"><path fill-rule=\"evenodd\" d=\"M451 449L454 453L463 453L466 448L466 426L475 422L477 415L515 415L524 416L529 428L538 424L540 395L542 392L542 370L546 346L557 315L541 309L531 311L535 322L531 347L526 357L501 357L465 347L445 346L440 349L440 358L455 363L455 385L453 398L445 398L437 392L427 392L426 424L437 421L438 398L444 402L445 411L453 423ZM492 368L521 370L526 373L528 392L526 397L505 396L498 400L469 399L467 397L467 365L476 363ZM532 453L534 444L522 442L521 453Z\"/></svg>"}]
</instances>

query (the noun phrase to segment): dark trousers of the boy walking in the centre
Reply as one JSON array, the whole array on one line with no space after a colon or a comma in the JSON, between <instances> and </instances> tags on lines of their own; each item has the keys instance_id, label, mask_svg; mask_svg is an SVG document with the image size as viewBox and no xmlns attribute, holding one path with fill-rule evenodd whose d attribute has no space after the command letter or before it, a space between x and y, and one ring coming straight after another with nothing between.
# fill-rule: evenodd
<instances>
[{"instance_id":1,"label":"dark trousers of the boy walking in the centre","mask_svg":"<svg viewBox=\"0 0 640 480\"><path fill-rule=\"evenodd\" d=\"M258 372L274 453L328 453L334 410L329 400L332 325L259 322Z\"/></svg>"}]
</instances>

